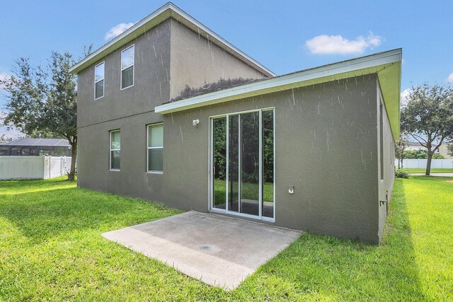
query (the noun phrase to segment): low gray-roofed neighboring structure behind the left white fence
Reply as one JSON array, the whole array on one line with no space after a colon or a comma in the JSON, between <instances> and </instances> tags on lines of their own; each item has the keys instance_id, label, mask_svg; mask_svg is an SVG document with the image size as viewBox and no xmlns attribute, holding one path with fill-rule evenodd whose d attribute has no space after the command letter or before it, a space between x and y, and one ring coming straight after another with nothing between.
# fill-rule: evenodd
<instances>
[{"instance_id":1,"label":"low gray-roofed neighboring structure behind the left white fence","mask_svg":"<svg viewBox=\"0 0 453 302\"><path fill-rule=\"evenodd\" d=\"M16 139L0 143L0 156L71 156L66 139Z\"/></svg>"}]
</instances>

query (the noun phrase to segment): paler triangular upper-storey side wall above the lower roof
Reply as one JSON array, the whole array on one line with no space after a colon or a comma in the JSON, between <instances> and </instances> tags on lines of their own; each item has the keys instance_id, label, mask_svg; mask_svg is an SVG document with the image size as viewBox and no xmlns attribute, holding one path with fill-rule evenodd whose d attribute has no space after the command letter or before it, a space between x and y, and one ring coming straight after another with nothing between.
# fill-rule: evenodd
<instances>
[{"instance_id":1,"label":"paler triangular upper-storey side wall above the lower roof","mask_svg":"<svg viewBox=\"0 0 453 302\"><path fill-rule=\"evenodd\" d=\"M263 79L266 76L205 37L171 19L171 98L188 85L199 88L219 79Z\"/></svg>"}]
</instances>

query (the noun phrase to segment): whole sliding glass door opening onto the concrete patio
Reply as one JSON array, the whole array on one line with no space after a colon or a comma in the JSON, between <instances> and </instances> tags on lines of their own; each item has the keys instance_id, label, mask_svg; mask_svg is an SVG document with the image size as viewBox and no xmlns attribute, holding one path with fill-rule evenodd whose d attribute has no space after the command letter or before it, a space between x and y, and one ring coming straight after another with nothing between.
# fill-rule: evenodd
<instances>
[{"instance_id":1,"label":"whole sliding glass door opening onto the concrete patio","mask_svg":"<svg viewBox=\"0 0 453 302\"><path fill-rule=\"evenodd\" d=\"M274 219L274 111L212 118L211 208Z\"/></svg>"}]
</instances>

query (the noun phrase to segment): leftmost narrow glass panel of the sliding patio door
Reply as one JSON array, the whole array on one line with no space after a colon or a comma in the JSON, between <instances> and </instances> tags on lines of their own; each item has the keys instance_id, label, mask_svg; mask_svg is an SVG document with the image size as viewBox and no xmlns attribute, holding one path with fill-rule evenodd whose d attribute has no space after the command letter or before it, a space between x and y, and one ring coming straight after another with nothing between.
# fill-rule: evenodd
<instances>
[{"instance_id":1,"label":"leftmost narrow glass panel of the sliding patio door","mask_svg":"<svg viewBox=\"0 0 453 302\"><path fill-rule=\"evenodd\" d=\"M212 120L212 207L226 209L226 117Z\"/></svg>"}]
</instances>

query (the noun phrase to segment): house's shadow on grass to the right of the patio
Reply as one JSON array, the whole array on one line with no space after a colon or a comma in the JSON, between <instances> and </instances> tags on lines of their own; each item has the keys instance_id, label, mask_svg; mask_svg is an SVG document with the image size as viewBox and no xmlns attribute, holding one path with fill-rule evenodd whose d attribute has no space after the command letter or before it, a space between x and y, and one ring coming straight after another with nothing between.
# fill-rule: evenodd
<instances>
[{"instance_id":1,"label":"house's shadow on grass to the right of the patio","mask_svg":"<svg viewBox=\"0 0 453 302\"><path fill-rule=\"evenodd\" d=\"M280 284L289 299L424 301L411 241L404 182L395 182L380 246L304 233L248 279Z\"/></svg>"}]
</instances>

